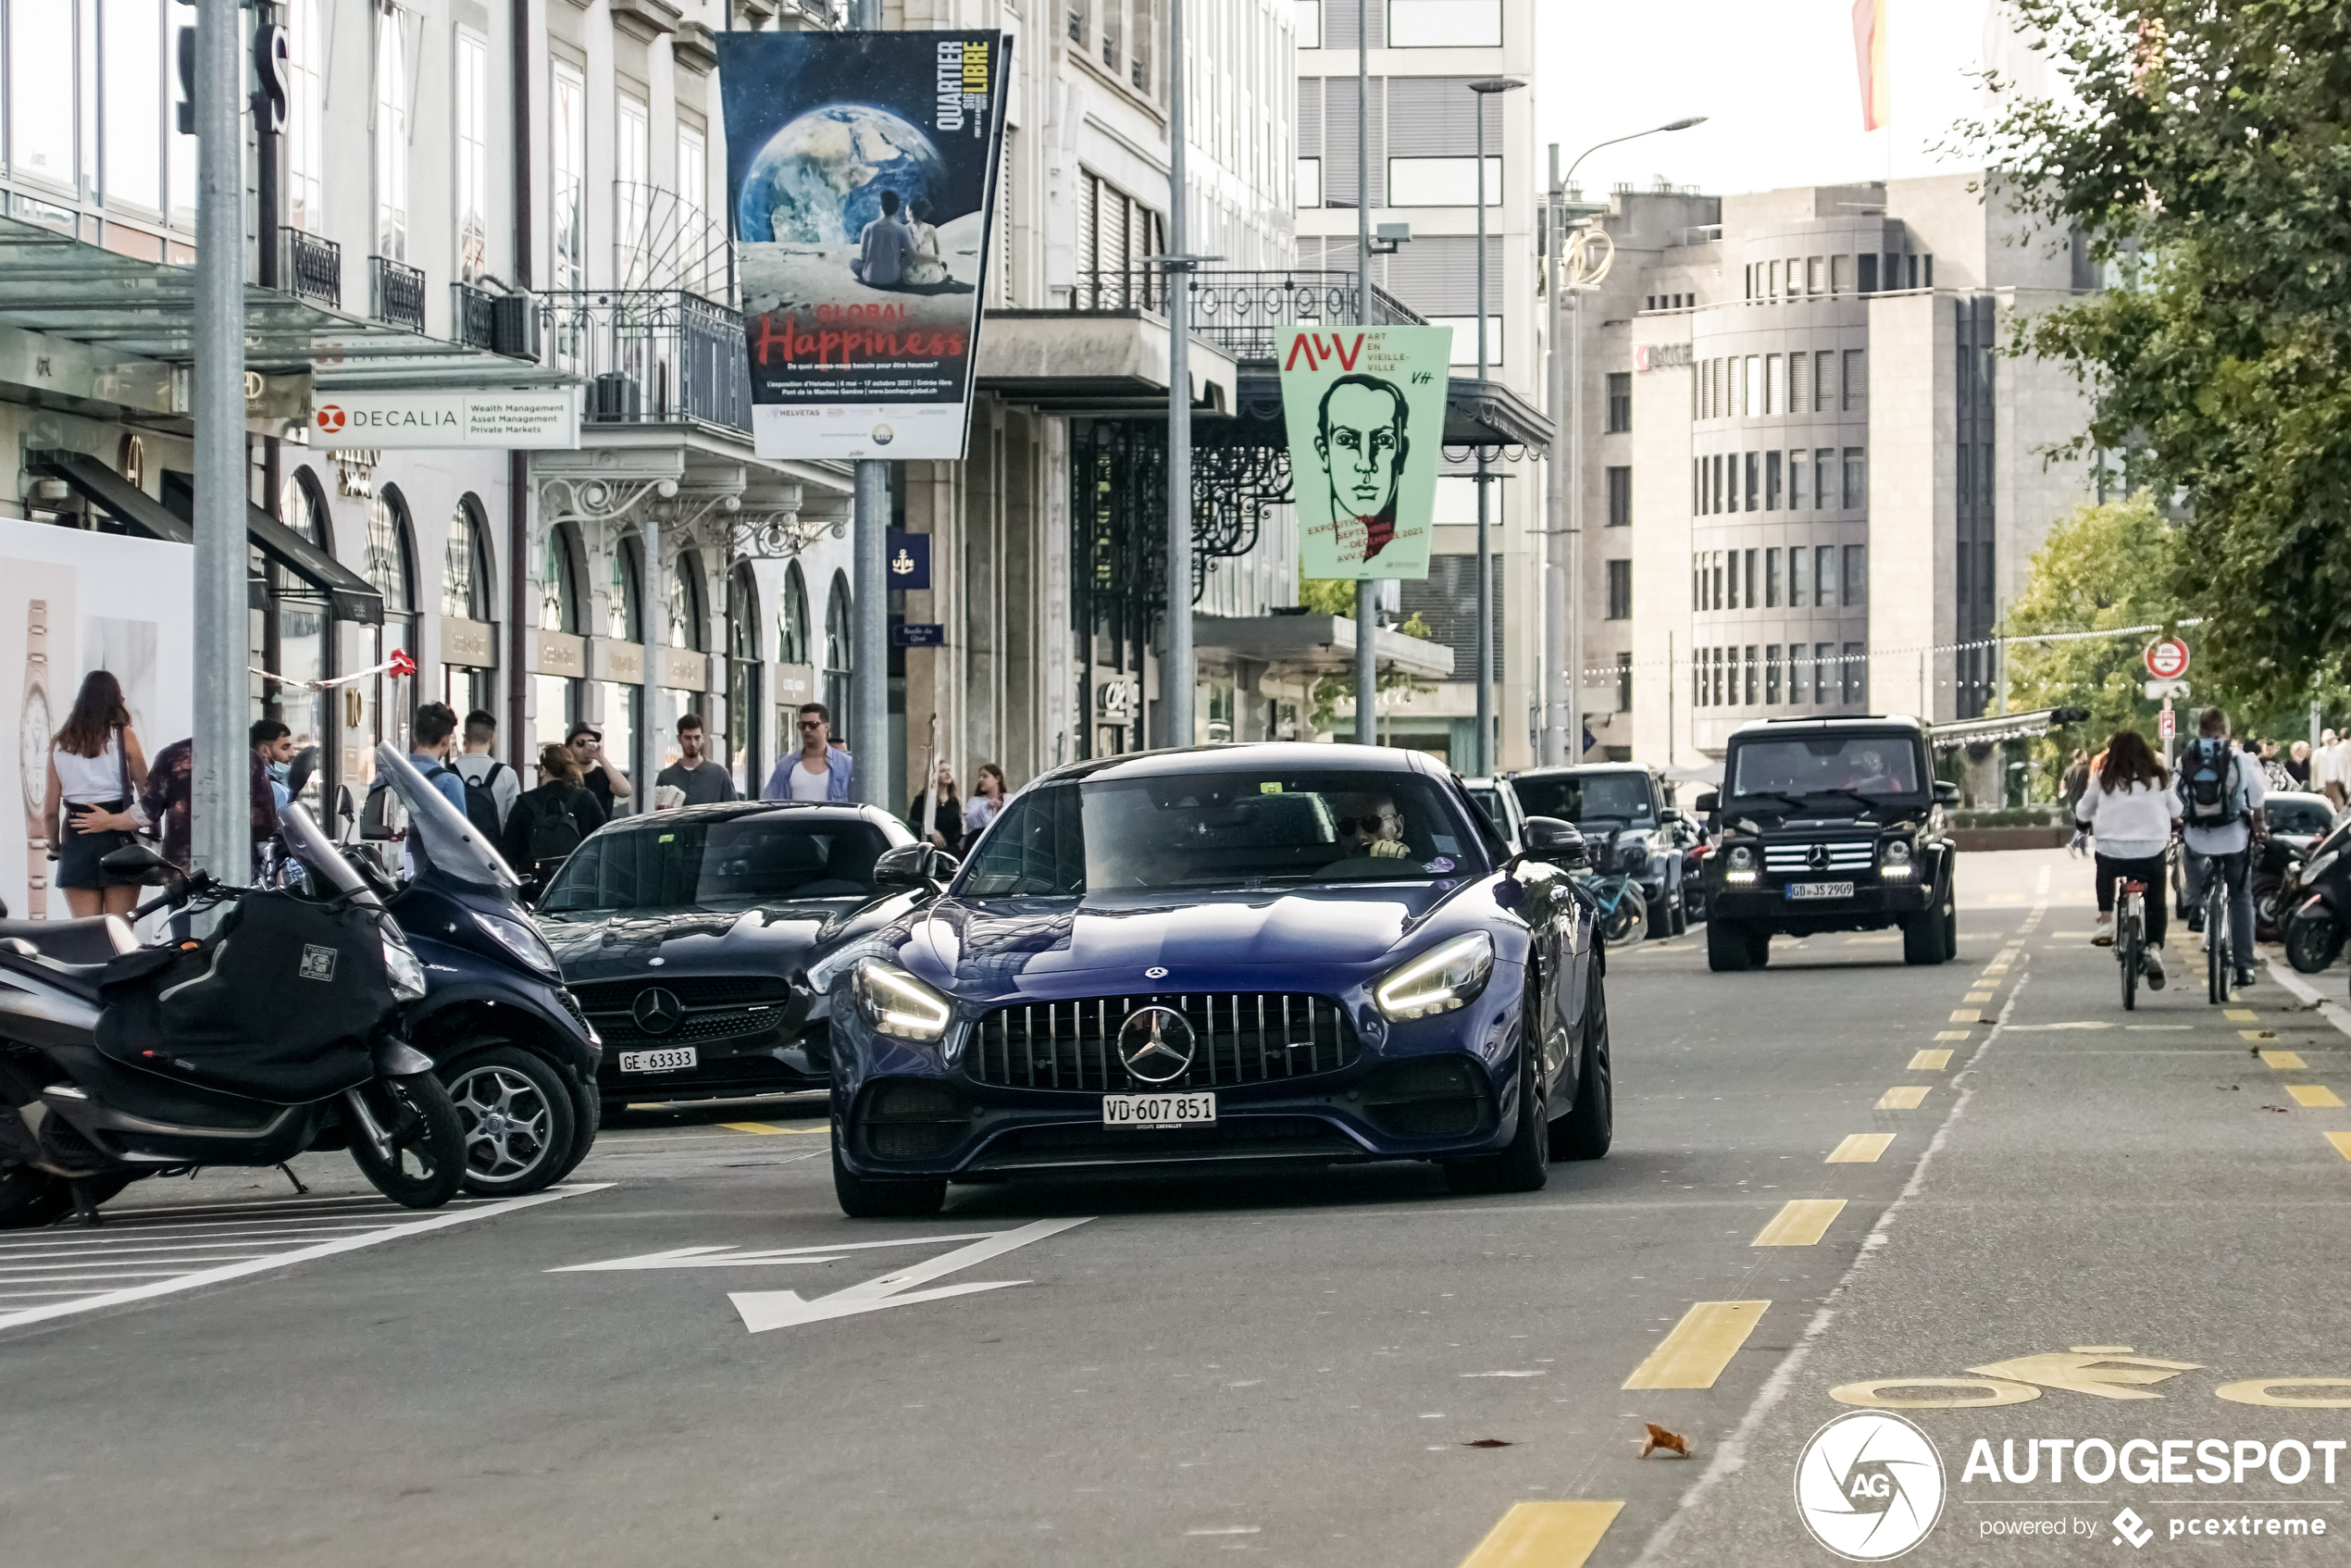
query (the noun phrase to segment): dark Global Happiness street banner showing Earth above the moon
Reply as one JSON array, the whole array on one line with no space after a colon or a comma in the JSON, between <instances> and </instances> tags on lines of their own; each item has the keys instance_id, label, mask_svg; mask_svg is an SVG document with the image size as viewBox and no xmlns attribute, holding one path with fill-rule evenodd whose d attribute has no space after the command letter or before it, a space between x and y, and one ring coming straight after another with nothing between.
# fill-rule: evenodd
<instances>
[{"instance_id":1,"label":"dark Global Happiness street banner showing Earth above the moon","mask_svg":"<svg viewBox=\"0 0 2351 1568\"><path fill-rule=\"evenodd\" d=\"M962 458L1004 33L719 33L764 458Z\"/></svg>"}]
</instances>

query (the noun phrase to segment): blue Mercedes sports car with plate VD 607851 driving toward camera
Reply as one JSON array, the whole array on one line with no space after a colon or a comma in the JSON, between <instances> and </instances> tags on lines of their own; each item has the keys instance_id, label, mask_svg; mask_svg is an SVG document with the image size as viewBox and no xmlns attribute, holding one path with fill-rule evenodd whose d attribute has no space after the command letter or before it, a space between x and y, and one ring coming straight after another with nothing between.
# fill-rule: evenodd
<instances>
[{"instance_id":1,"label":"blue Mercedes sports car with plate VD 607851 driving toward camera","mask_svg":"<svg viewBox=\"0 0 2351 1568\"><path fill-rule=\"evenodd\" d=\"M1023 790L952 882L809 966L851 1215L950 1180L1432 1159L1533 1190L1608 1152L1568 823L1512 856L1404 750L1215 745Z\"/></svg>"}]
</instances>

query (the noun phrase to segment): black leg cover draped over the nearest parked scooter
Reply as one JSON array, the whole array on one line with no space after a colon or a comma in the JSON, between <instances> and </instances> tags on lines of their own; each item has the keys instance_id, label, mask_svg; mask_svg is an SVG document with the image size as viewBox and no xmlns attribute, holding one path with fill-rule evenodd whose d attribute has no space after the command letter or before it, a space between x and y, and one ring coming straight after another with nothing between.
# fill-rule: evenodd
<instances>
[{"instance_id":1,"label":"black leg cover draped over the nearest parked scooter","mask_svg":"<svg viewBox=\"0 0 2351 1568\"><path fill-rule=\"evenodd\" d=\"M106 971L103 1056L254 1100L301 1105L374 1077L395 1016L381 910L247 893L205 943Z\"/></svg>"}]
</instances>

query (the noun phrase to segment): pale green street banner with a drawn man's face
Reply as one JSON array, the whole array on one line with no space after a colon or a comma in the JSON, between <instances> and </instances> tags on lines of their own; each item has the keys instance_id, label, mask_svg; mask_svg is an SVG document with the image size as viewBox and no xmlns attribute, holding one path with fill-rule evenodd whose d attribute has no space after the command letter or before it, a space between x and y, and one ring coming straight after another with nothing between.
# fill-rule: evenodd
<instances>
[{"instance_id":1,"label":"pale green street banner with a drawn man's face","mask_svg":"<svg viewBox=\"0 0 2351 1568\"><path fill-rule=\"evenodd\" d=\"M1300 574L1429 576L1453 329L1288 327L1277 348Z\"/></svg>"}]
</instances>

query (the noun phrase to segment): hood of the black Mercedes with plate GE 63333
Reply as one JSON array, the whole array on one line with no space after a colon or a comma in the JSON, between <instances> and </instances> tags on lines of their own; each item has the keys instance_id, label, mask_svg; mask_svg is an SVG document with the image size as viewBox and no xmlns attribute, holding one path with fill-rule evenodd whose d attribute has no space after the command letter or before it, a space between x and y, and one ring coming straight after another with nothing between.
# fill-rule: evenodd
<instances>
[{"instance_id":1,"label":"hood of the black Mercedes with plate GE 63333","mask_svg":"<svg viewBox=\"0 0 2351 1568\"><path fill-rule=\"evenodd\" d=\"M900 900L882 903L898 905ZM642 976L656 961L668 973L757 971L790 976L802 966L809 947L839 936L860 914L884 919L877 907L853 898L811 898L748 910L541 914L538 931L548 938L555 961L562 964L564 980L571 985Z\"/></svg>"}]
</instances>

